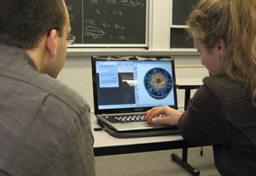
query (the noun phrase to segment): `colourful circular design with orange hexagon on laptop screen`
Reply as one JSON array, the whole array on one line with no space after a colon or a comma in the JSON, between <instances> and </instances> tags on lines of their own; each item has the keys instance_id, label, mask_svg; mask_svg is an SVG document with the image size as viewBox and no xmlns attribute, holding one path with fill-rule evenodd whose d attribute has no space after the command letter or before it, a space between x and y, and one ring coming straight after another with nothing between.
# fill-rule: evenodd
<instances>
[{"instance_id":1,"label":"colourful circular design with orange hexagon on laptop screen","mask_svg":"<svg viewBox=\"0 0 256 176\"><path fill-rule=\"evenodd\" d=\"M162 68L153 68L144 77L144 87L154 99L164 99L172 91L172 77Z\"/></svg>"}]
</instances>

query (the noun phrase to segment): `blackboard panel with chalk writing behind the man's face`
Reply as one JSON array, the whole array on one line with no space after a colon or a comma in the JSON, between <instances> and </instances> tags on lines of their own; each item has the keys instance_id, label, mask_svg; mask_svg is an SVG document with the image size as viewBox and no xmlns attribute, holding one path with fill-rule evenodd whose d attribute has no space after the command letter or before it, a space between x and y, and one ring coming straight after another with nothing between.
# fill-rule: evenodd
<instances>
[{"instance_id":1,"label":"blackboard panel with chalk writing behind the man's face","mask_svg":"<svg viewBox=\"0 0 256 176\"><path fill-rule=\"evenodd\" d=\"M77 44L147 42L148 0L66 0Z\"/></svg>"}]
</instances>

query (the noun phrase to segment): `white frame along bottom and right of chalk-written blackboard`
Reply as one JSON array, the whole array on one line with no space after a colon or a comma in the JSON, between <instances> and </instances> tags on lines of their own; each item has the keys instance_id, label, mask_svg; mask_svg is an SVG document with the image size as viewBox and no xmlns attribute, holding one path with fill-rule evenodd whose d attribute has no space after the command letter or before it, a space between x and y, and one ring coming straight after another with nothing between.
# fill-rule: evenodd
<instances>
[{"instance_id":1,"label":"white frame along bottom and right of chalk-written blackboard","mask_svg":"<svg viewBox=\"0 0 256 176\"><path fill-rule=\"evenodd\" d=\"M145 1L146 1L145 43L74 43L71 46L67 46L67 48L146 48L148 49L149 22L150 22L150 16L151 16L149 9L152 7L152 1L150 0L145 0ZM83 1L81 2L83 3Z\"/></svg>"}]
</instances>

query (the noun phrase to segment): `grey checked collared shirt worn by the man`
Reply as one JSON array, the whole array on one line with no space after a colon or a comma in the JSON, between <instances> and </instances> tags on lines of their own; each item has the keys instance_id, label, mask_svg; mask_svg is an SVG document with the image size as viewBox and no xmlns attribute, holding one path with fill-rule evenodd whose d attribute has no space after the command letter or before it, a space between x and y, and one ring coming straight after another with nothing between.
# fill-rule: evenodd
<instances>
[{"instance_id":1,"label":"grey checked collared shirt worn by the man","mask_svg":"<svg viewBox=\"0 0 256 176\"><path fill-rule=\"evenodd\" d=\"M96 175L90 107L82 96L2 42L0 84L0 169L14 176Z\"/></svg>"}]
</instances>

